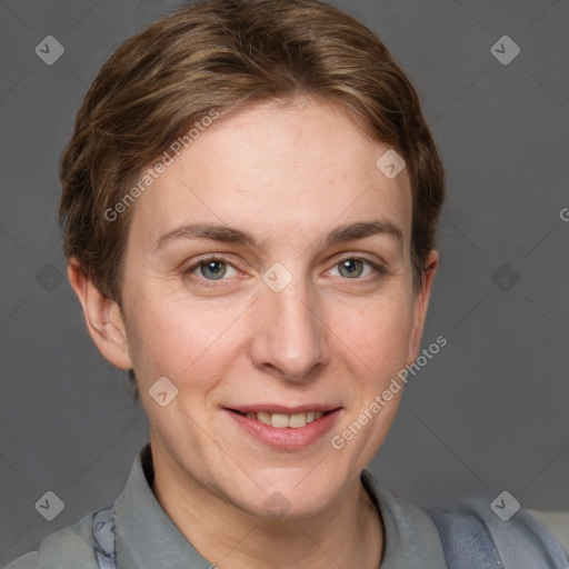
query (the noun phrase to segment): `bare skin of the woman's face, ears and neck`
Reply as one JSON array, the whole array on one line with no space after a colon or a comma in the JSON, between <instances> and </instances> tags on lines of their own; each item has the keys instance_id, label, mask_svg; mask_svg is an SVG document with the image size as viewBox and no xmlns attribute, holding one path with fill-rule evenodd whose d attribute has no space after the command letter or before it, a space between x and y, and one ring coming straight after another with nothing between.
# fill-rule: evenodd
<instances>
[{"instance_id":1,"label":"bare skin of the woman's face, ears and neck","mask_svg":"<svg viewBox=\"0 0 569 569\"><path fill-rule=\"evenodd\" d=\"M378 170L386 150L322 101L241 109L209 127L133 206L122 311L74 259L69 263L99 350L136 371L150 421L153 492L220 568L380 563L381 519L359 476L402 390L343 449L330 438L417 358L438 263L432 251L413 288L409 177ZM402 238L319 241L340 224L378 219ZM190 222L239 228L259 246L178 239L156 251L162 234ZM189 271L206 253L229 263L216 266L226 270L221 280L207 262ZM350 273L343 258L383 271L353 261ZM280 292L262 280L276 262L292 278ZM166 407L149 396L163 376L178 388ZM317 442L278 450L223 410L268 402L342 409ZM274 492L288 505L280 519L263 508Z\"/></svg>"}]
</instances>

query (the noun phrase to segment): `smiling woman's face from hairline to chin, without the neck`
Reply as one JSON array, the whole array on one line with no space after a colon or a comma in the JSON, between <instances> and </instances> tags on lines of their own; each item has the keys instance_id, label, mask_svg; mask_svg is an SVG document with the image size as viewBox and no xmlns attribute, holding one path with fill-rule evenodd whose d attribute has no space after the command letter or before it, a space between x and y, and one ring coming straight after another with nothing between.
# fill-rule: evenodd
<instances>
[{"instance_id":1,"label":"smiling woman's face from hairline to chin, without the neck","mask_svg":"<svg viewBox=\"0 0 569 569\"><path fill-rule=\"evenodd\" d=\"M154 456L251 515L280 495L322 511L397 411L402 391L369 409L417 357L430 278L413 289L410 182L377 168L387 150L328 104L266 103L220 118L134 204L128 361L107 356L134 368Z\"/></svg>"}]
</instances>

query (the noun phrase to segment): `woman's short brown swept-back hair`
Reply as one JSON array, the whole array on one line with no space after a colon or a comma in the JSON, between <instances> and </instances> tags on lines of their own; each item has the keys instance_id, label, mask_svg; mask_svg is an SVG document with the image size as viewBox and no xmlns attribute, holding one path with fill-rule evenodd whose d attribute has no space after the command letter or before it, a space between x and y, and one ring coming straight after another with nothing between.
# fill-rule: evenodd
<instances>
[{"instance_id":1,"label":"woman's short brown swept-back hair","mask_svg":"<svg viewBox=\"0 0 569 569\"><path fill-rule=\"evenodd\" d=\"M124 41L78 111L60 161L63 249L119 306L132 208L104 212L191 124L296 96L339 103L406 160L413 274L435 247L443 169L418 96L366 26L319 0L198 0Z\"/></svg>"}]
</instances>

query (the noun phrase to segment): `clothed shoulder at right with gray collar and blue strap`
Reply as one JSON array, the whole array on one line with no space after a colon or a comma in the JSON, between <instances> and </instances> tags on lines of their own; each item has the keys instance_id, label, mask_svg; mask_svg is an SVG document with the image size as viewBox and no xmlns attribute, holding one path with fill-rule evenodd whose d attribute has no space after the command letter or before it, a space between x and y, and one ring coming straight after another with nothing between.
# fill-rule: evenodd
<instances>
[{"instance_id":1,"label":"clothed shoulder at right with gray collar and blue strap","mask_svg":"<svg viewBox=\"0 0 569 569\"><path fill-rule=\"evenodd\" d=\"M545 512L519 509L500 517L489 501L481 499L466 500L452 509L425 509L391 493L368 470L361 479L379 500L387 550L411 551L413 557L428 551L427 559L441 559L442 555L437 567L452 569L569 569L567 512L555 519L545 515L538 519L532 513ZM499 509L503 509L502 502Z\"/></svg>"}]
</instances>

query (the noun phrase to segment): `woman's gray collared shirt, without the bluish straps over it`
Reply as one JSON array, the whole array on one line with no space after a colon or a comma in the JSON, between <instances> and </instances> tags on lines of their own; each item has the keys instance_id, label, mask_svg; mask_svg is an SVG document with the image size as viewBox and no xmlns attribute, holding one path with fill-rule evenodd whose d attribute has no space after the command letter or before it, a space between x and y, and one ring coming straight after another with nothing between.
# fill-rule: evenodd
<instances>
[{"instance_id":1,"label":"woman's gray collared shirt, without the bluish straps over it","mask_svg":"<svg viewBox=\"0 0 569 569\"><path fill-rule=\"evenodd\" d=\"M114 502L117 569L211 569L156 499L150 445L134 458L129 479ZM412 502L395 497L369 470L361 481L378 507L385 528L381 569L446 569L435 522ZM6 569L97 569L92 513L68 526Z\"/></svg>"}]
</instances>

